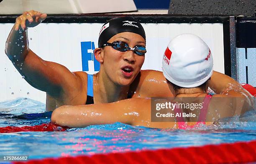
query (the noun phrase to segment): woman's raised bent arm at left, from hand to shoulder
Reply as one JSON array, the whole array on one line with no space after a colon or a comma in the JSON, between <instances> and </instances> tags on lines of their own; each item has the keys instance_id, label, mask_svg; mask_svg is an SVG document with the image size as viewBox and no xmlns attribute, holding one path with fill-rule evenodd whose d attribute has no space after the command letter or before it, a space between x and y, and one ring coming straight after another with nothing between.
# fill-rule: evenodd
<instances>
[{"instance_id":1,"label":"woman's raised bent arm at left, from hand to shoulder","mask_svg":"<svg viewBox=\"0 0 256 164\"><path fill-rule=\"evenodd\" d=\"M29 49L28 28L40 24L46 16L31 10L17 17L5 44L5 54L29 84L61 99L68 92L79 92L82 80L63 65L45 61Z\"/></svg>"}]
</instances>

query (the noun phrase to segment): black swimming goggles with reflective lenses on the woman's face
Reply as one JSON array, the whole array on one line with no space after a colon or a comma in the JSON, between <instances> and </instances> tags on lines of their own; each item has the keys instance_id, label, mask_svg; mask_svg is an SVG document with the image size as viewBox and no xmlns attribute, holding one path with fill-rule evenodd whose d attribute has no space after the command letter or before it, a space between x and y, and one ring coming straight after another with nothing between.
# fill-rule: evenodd
<instances>
[{"instance_id":1,"label":"black swimming goggles with reflective lenses on the woman's face","mask_svg":"<svg viewBox=\"0 0 256 164\"><path fill-rule=\"evenodd\" d=\"M129 47L128 43L123 41L115 41L113 43L106 42L103 46L112 46L115 50L125 52L128 50L132 50L137 55L145 55L147 52L146 47L136 45L134 48Z\"/></svg>"}]
</instances>

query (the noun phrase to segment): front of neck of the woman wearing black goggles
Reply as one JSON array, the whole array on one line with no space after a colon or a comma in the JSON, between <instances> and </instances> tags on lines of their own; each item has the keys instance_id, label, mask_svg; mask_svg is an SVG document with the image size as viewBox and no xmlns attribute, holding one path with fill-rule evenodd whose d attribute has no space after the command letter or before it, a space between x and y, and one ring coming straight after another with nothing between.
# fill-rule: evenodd
<instances>
[{"instance_id":1,"label":"front of neck of the woman wearing black goggles","mask_svg":"<svg viewBox=\"0 0 256 164\"><path fill-rule=\"evenodd\" d=\"M109 103L126 99L128 96L129 86L120 86L113 83L107 75L97 73L93 80L95 102Z\"/></svg>"}]
</instances>

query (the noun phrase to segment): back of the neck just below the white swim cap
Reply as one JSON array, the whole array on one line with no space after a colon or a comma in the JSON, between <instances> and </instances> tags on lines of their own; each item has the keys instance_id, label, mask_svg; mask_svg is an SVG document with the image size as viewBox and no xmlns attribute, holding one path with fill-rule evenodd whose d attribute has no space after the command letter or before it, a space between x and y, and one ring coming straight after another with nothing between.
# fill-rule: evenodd
<instances>
[{"instance_id":1,"label":"back of the neck just below the white swim cap","mask_svg":"<svg viewBox=\"0 0 256 164\"><path fill-rule=\"evenodd\" d=\"M176 97L198 97L200 94L205 94L205 91L202 88L181 88L176 92Z\"/></svg>"}]
</instances>

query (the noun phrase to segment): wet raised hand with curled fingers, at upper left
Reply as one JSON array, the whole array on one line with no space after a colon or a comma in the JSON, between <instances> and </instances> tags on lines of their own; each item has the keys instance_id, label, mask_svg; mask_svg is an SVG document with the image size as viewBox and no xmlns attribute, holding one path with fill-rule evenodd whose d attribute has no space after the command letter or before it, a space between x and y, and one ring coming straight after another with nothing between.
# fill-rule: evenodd
<instances>
[{"instance_id":1,"label":"wet raised hand with curled fingers, at upper left","mask_svg":"<svg viewBox=\"0 0 256 164\"><path fill-rule=\"evenodd\" d=\"M16 18L15 30L18 31L19 28L25 29L26 27L35 27L43 20L45 20L47 14L42 14L34 10L25 11L22 15Z\"/></svg>"}]
</instances>

